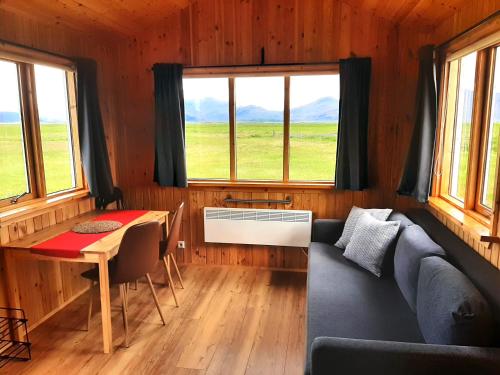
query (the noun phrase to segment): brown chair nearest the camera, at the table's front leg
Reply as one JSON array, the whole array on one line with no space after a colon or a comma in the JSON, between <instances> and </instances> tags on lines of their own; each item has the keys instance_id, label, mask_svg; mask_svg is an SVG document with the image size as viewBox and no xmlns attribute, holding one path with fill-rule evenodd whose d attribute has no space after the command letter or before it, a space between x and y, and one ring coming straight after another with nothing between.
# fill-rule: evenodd
<instances>
[{"instance_id":1,"label":"brown chair nearest the camera, at the table's front leg","mask_svg":"<svg viewBox=\"0 0 500 375\"><path fill-rule=\"evenodd\" d=\"M122 302L123 325L125 329L125 346L128 347L128 284L140 277L146 277L149 289L153 295L156 308L160 318L165 325L165 318L160 308L158 297L153 287L149 273L152 272L158 262L158 243L160 241L161 226L152 221L131 226L123 235L118 254L109 262L110 284L120 286L120 298ZM95 285L99 282L99 269L85 271L82 276L92 281L90 290L90 302L88 311L87 330L90 326L92 313L92 294Z\"/></svg>"}]
</instances>

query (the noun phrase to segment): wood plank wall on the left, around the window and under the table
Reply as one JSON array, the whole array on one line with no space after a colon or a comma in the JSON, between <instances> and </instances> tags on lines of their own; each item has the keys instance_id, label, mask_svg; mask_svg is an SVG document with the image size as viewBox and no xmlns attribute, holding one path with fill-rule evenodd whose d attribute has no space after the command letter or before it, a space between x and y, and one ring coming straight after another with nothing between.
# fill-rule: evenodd
<instances>
[{"instance_id":1,"label":"wood plank wall on the left, around the window and under the table","mask_svg":"<svg viewBox=\"0 0 500 375\"><path fill-rule=\"evenodd\" d=\"M56 25L47 25L24 16L0 10L0 39L59 53L68 57L89 57L98 61L98 85L113 173L115 166L115 132L117 129L114 41L93 39ZM50 210L32 211L15 221L1 224L1 244L83 213L93 206L89 198L63 203ZM5 264L0 253L0 306L6 306L8 292L7 268L17 271L19 298L26 310L30 327L36 326L61 306L85 290L88 283L80 278L81 266L16 259ZM12 292L12 291L10 291Z\"/></svg>"}]
</instances>

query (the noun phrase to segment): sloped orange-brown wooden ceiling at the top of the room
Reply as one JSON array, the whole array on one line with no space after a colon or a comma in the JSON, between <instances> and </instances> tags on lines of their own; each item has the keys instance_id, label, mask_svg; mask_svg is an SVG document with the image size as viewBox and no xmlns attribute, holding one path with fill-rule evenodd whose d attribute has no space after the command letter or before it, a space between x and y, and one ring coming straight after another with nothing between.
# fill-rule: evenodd
<instances>
[{"instance_id":1,"label":"sloped orange-brown wooden ceiling at the top of the room","mask_svg":"<svg viewBox=\"0 0 500 375\"><path fill-rule=\"evenodd\" d=\"M160 23L193 1L195 0L0 0L0 8L81 31L132 36ZM307 0L281 2L289 1ZM423 27L436 26L467 3L467 0L340 1L373 12L375 16L396 24L418 24ZM279 4L280 1L276 0L276 3Z\"/></svg>"}]
</instances>

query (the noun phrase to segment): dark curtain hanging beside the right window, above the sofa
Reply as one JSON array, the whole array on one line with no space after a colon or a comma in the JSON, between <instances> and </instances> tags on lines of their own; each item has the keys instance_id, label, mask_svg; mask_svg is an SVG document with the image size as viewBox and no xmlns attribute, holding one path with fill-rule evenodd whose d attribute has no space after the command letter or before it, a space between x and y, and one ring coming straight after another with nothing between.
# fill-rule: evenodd
<instances>
[{"instance_id":1,"label":"dark curtain hanging beside the right window, above the sofa","mask_svg":"<svg viewBox=\"0 0 500 375\"><path fill-rule=\"evenodd\" d=\"M425 203L431 189L437 126L434 46L422 47L419 60L415 127L398 194Z\"/></svg>"}]
</instances>

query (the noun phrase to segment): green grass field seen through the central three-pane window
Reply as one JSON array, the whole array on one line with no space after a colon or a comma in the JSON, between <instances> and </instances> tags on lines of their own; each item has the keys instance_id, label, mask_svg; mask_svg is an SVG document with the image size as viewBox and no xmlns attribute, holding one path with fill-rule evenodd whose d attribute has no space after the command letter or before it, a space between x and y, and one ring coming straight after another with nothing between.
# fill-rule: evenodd
<instances>
[{"instance_id":1,"label":"green grass field seen through the central three-pane window","mask_svg":"<svg viewBox=\"0 0 500 375\"><path fill-rule=\"evenodd\" d=\"M229 178L229 125L187 123L187 164L190 178ZM292 123L290 179L332 181L335 174L336 123ZM283 178L283 125L237 123L239 179Z\"/></svg>"}]
</instances>

